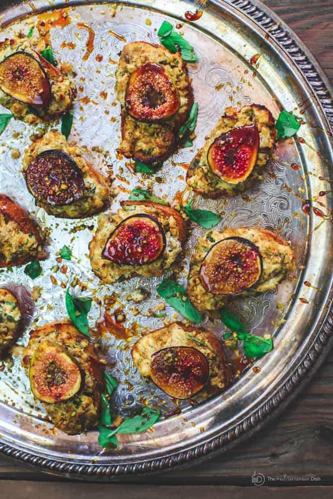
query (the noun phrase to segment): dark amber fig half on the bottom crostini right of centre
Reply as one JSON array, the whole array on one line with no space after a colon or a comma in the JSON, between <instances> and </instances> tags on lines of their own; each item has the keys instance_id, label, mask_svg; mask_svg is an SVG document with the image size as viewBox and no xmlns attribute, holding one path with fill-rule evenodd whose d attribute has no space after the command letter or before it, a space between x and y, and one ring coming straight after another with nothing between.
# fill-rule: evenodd
<instances>
[{"instance_id":1,"label":"dark amber fig half on the bottom crostini right of centre","mask_svg":"<svg viewBox=\"0 0 333 499\"><path fill-rule=\"evenodd\" d=\"M152 355L150 377L165 393L176 399L188 399L207 383L206 357L196 348L174 346Z\"/></svg>"}]
</instances>

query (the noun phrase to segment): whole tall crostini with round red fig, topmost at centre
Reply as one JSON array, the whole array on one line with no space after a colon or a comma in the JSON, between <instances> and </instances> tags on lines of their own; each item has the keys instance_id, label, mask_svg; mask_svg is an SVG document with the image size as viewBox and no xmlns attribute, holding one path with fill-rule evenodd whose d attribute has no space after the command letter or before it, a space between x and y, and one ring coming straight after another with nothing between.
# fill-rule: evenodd
<instances>
[{"instance_id":1,"label":"whole tall crostini with round red fig, topmost at centre","mask_svg":"<svg viewBox=\"0 0 333 499\"><path fill-rule=\"evenodd\" d=\"M128 43L116 70L116 90L121 104L118 152L143 163L167 159L193 104L180 53L145 41Z\"/></svg>"}]
</instances>

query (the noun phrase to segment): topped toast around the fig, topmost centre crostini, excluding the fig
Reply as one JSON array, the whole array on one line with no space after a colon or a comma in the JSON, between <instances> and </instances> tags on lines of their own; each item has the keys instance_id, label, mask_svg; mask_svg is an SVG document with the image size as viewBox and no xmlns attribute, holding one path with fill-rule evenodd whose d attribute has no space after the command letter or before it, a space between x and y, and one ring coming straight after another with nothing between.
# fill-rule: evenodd
<instances>
[{"instance_id":1,"label":"topped toast around the fig, topmost centre crostini, excluding the fig","mask_svg":"<svg viewBox=\"0 0 333 499\"><path fill-rule=\"evenodd\" d=\"M180 97L180 107L170 119L144 122L126 111L125 94L131 74L146 63L163 67ZM121 104L122 141L118 152L126 158L156 163L167 159L175 150L179 128L186 121L193 104L193 90L187 66L179 52L170 52L162 45L135 41L124 46L116 71L117 98Z\"/></svg>"}]
</instances>

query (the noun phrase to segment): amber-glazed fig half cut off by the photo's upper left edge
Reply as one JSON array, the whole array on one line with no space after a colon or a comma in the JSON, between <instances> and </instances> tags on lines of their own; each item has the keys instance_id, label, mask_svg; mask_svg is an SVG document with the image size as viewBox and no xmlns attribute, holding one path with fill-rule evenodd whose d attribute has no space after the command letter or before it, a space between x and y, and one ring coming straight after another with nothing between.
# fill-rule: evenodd
<instances>
[{"instance_id":1,"label":"amber-glazed fig half cut off by the photo's upper left edge","mask_svg":"<svg viewBox=\"0 0 333 499\"><path fill-rule=\"evenodd\" d=\"M21 102L48 107L51 88L47 75L35 57L14 52L0 62L1 90Z\"/></svg>"}]
</instances>

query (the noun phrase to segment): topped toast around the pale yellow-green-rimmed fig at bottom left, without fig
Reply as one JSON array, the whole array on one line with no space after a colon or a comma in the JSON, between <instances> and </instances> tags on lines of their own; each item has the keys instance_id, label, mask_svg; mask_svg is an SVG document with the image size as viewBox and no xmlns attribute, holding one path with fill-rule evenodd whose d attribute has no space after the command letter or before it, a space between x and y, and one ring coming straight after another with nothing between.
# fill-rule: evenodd
<instances>
[{"instance_id":1,"label":"topped toast around the pale yellow-green-rimmed fig at bottom left, without fig","mask_svg":"<svg viewBox=\"0 0 333 499\"><path fill-rule=\"evenodd\" d=\"M83 386L73 398L64 402L43 404L47 416L54 426L69 435L79 434L97 426L100 396L104 388L103 368L89 339L69 321L53 322L34 329L30 333L22 359L27 375L34 351L39 343L45 340L64 348L79 365L83 377Z\"/></svg>"}]
</instances>

